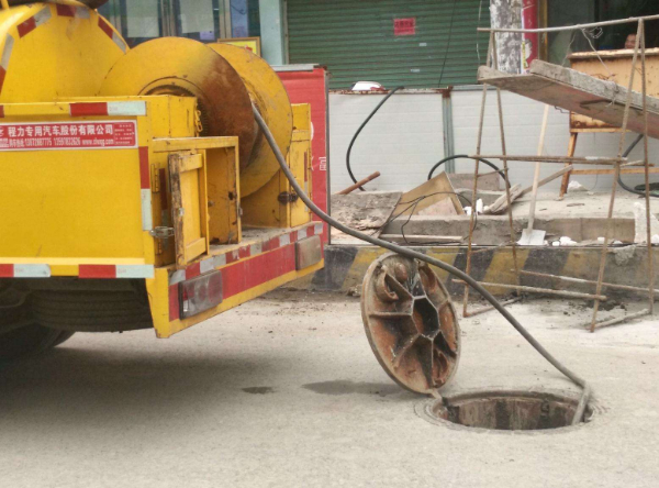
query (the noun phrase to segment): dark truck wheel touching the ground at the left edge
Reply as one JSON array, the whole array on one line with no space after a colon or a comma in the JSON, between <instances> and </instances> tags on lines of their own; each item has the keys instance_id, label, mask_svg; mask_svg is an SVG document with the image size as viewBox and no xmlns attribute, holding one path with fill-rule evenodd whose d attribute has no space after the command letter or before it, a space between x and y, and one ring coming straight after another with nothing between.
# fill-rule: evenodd
<instances>
[{"instance_id":1,"label":"dark truck wheel touching the ground at the left edge","mask_svg":"<svg viewBox=\"0 0 659 488\"><path fill-rule=\"evenodd\" d=\"M36 356L54 347L62 334L35 323L0 334L0 364Z\"/></svg>"}]
</instances>

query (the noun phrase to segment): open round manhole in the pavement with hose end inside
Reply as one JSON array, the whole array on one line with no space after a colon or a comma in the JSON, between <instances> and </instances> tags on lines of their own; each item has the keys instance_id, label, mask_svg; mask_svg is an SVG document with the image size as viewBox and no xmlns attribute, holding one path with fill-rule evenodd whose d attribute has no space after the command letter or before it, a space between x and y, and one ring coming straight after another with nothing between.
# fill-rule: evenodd
<instances>
[{"instance_id":1,"label":"open round manhole in the pavement with hose end inside","mask_svg":"<svg viewBox=\"0 0 659 488\"><path fill-rule=\"evenodd\" d=\"M420 403L416 411L437 424L494 431L547 431L569 428L578 397L547 391L479 391ZM592 421L597 407L591 402L582 424Z\"/></svg>"}]
</instances>

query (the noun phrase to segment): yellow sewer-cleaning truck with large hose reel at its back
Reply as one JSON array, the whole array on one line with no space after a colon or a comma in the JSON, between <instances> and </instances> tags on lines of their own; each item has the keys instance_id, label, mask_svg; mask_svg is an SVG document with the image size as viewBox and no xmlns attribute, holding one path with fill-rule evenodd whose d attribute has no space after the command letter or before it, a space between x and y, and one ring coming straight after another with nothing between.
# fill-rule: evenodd
<instances>
[{"instance_id":1,"label":"yellow sewer-cleaning truck with large hose reel at its back","mask_svg":"<svg viewBox=\"0 0 659 488\"><path fill-rule=\"evenodd\" d=\"M246 49L130 49L96 10L0 10L0 363L75 332L169 337L323 266L311 122Z\"/></svg>"}]
</instances>

